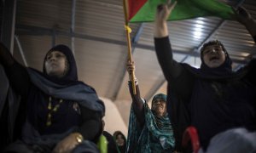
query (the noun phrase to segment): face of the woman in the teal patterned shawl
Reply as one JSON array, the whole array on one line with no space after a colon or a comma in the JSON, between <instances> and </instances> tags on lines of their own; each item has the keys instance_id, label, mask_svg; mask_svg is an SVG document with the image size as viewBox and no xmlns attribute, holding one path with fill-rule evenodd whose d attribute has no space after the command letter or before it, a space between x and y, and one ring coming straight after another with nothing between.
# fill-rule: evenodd
<instances>
[{"instance_id":1,"label":"face of the woman in the teal patterned shawl","mask_svg":"<svg viewBox=\"0 0 256 153\"><path fill-rule=\"evenodd\" d=\"M157 116L166 115L166 101L164 99L155 99L152 104L152 110Z\"/></svg>"}]
</instances>

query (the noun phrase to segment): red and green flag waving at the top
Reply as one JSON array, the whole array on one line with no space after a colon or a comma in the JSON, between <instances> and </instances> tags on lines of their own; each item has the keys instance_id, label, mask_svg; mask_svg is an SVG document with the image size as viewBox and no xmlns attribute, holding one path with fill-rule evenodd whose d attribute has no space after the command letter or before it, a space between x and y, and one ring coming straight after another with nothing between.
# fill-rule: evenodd
<instances>
[{"instance_id":1,"label":"red and green flag waving at the top","mask_svg":"<svg viewBox=\"0 0 256 153\"><path fill-rule=\"evenodd\" d=\"M129 22L154 21L156 8L167 0L127 0ZM173 2L174 0L172 0ZM168 20L186 20L196 17L217 16L231 20L233 9L218 0L177 0Z\"/></svg>"}]
</instances>

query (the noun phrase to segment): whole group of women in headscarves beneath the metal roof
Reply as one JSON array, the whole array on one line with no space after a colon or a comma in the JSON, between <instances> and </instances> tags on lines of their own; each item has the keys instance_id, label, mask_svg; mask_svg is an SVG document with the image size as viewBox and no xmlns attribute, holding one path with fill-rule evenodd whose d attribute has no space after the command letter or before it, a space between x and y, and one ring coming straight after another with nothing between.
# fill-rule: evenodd
<instances>
[{"instance_id":1,"label":"whole group of women in headscarves beneath the metal roof","mask_svg":"<svg viewBox=\"0 0 256 153\"><path fill-rule=\"evenodd\" d=\"M256 152L256 60L232 71L228 50L214 40L202 46L199 69L177 62L166 22L175 5L156 8L154 46L168 87L167 94L154 95L151 109L136 78L134 94L135 65L127 63L132 100L127 139L118 129L113 134L104 131L105 105L94 88L79 81L70 48L50 48L38 71L20 65L0 42L0 77L9 80L1 85L8 91L3 88L0 94L6 99L0 100L0 151L191 152L182 139L193 126L201 153ZM234 18L256 42L256 22L247 10L237 8Z\"/></svg>"}]
</instances>

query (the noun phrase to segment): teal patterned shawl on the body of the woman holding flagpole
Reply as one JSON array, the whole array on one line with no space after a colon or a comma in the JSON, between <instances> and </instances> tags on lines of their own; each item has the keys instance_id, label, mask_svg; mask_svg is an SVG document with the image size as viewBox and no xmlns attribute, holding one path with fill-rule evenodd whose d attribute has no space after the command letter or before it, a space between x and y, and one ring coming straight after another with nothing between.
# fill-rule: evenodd
<instances>
[{"instance_id":1,"label":"teal patterned shawl on the body of the woman holding flagpole","mask_svg":"<svg viewBox=\"0 0 256 153\"><path fill-rule=\"evenodd\" d=\"M136 153L172 152L175 140L167 115L164 117L154 116L147 103L144 103L144 113L145 125L141 128L131 107L127 151Z\"/></svg>"}]
</instances>

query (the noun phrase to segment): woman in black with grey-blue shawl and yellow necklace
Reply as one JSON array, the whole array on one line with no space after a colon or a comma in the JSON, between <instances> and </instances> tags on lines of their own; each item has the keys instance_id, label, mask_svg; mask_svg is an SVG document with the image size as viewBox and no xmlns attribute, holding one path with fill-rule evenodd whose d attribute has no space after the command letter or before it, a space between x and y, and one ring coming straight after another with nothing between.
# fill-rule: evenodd
<instances>
[{"instance_id":1,"label":"woman in black with grey-blue shawl and yellow necklace","mask_svg":"<svg viewBox=\"0 0 256 153\"><path fill-rule=\"evenodd\" d=\"M83 145L96 148L92 142L101 133L105 107L94 88L79 82L70 48L51 48L44 57L43 73L20 65L2 43L0 59L12 87L21 96L21 105L26 105L21 140L7 150L66 152Z\"/></svg>"}]
</instances>

